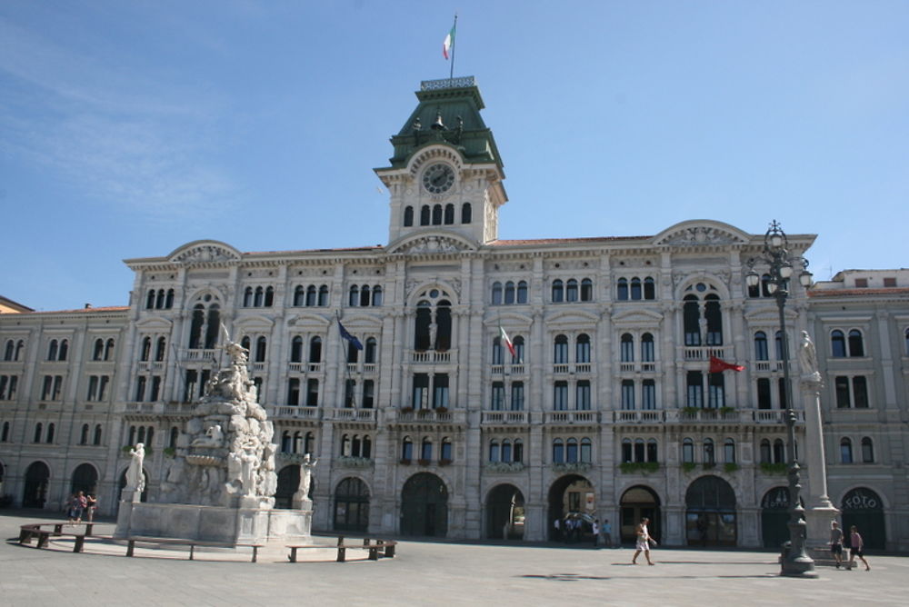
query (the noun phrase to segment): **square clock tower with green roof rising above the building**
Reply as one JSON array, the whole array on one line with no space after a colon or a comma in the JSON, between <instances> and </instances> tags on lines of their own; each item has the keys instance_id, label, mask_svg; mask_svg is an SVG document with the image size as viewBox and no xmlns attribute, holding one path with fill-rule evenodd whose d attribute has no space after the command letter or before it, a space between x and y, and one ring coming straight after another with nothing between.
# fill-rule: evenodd
<instances>
[{"instance_id":1,"label":"square clock tower with green roof rising above the building","mask_svg":"<svg viewBox=\"0 0 909 607\"><path fill-rule=\"evenodd\" d=\"M424 81L416 98L391 139L391 166L375 169L390 194L389 248L425 234L460 236L476 246L494 241L508 197L474 77Z\"/></svg>"}]
</instances>

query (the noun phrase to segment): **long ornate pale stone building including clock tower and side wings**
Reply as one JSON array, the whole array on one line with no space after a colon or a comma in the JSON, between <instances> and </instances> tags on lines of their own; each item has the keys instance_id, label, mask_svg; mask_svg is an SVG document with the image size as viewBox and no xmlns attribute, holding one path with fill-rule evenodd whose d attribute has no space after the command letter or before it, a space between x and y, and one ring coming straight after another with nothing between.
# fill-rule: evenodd
<instances>
[{"instance_id":1,"label":"long ornate pale stone building including clock tower and side wings","mask_svg":"<svg viewBox=\"0 0 909 607\"><path fill-rule=\"evenodd\" d=\"M155 499L223 324L275 422L279 507L318 458L315 529L544 540L567 515L627 541L648 516L670 545L785 539L784 341L744 280L764 234L499 239L503 162L473 78L416 96L375 171L384 246L196 241L126 260L128 306L0 314L0 494L59 510L82 489L115 512L143 442ZM794 255L813 242L789 235ZM870 546L909 550L909 271L792 284L786 313L817 345L831 500ZM799 448L817 448L793 393Z\"/></svg>"}]
</instances>

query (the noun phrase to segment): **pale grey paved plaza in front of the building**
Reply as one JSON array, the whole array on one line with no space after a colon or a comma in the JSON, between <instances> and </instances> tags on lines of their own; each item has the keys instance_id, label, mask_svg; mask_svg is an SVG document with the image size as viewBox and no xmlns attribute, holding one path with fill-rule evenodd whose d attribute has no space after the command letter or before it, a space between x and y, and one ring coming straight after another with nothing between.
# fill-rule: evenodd
<instances>
[{"instance_id":1,"label":"pale grey paved plaza in front of the building","mask_svg":"<svg viewBox=\"0 0 909 607\"><path fill-rule=\"evenodd\" d=\"M770 552L658 549L650 567L632 566L628 548L554 543L405 541L395 559L345 563L331 550L322 562L291 563L275 547L257 563L248 552L197 552L190 562L188 550L126 558L123 546L93 542L83 554L65 552L71 543L20 547L25 522L54 521L0 513L9 538L0 547L2 605L902 605L909 591L909 558L875 554L871 572L820 567L816 580L779 577Z\"/></svg>"}]
</instances>

